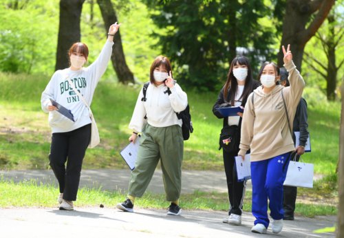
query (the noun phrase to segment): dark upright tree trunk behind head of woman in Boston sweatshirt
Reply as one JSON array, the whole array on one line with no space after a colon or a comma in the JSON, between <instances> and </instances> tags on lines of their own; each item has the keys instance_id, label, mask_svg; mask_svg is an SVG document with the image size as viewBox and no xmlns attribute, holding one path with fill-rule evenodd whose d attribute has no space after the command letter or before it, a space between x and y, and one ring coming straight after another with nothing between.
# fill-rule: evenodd
<instances>
[{"instance_id":1,"label":"dark upright tree trunk behind head of woman in Boston sweatshirt","mask_svg":"<svg viewBox=\"0 0 344 238\"><path fill-rule=\"evenodd\" d=\"M60 24L55 70L69 67L68 50L73 43L80 41L80 16L85 0L61 0Z\"/></svg>"}]
</instances>

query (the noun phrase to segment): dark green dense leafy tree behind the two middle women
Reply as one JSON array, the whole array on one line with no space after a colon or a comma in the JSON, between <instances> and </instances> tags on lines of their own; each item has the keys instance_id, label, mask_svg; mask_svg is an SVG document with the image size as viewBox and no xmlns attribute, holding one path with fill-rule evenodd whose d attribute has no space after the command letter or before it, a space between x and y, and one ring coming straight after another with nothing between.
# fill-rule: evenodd
<instances>
[{"instance_id":1,"label":"dark green dense leafy tree behind the two middle women","mask_svg":"<svg viewBox=\"0 0 344 238\"><path fill-rule=\"evenodd\" d=\"M272 29L262 28L259 22L270 10L262 1L145 2L160 28L154 35L162 52L177 65L178 78L186 86L214 90L238 53L247 54L254 65L270 57Z\"/></svg>"}]
</instances>

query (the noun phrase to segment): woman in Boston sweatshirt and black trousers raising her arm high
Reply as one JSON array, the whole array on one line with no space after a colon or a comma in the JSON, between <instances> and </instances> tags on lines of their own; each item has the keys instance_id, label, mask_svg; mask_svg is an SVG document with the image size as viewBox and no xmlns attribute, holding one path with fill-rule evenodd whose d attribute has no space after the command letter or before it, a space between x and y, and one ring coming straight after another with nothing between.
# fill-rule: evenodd
<instances>
[{"instance_id":1,"label":"woman in Boston sweatshirt and black trousers raising her arm high","mask_svg":"<svg viewBox=\"0 0 344 238\"><path fill-rule=\"evenodd\" d=\"M70 67L57 70L42 93L41 106L44 112L49 112L49 125L52 128L49 160L58 180L60 210L74 209L73 201L76 201L83 158L91 138L89 110L76 95L69 81L72 81L74 88L91 105L94 90L111 58L114 35L118 28L117 23L110 26L103 50L98 59L87 68L83 68L88 57L86 44L74 43L68 54ZM69 110L68 117L57 111L52 100Z\"/></svg>"}]
</instances>

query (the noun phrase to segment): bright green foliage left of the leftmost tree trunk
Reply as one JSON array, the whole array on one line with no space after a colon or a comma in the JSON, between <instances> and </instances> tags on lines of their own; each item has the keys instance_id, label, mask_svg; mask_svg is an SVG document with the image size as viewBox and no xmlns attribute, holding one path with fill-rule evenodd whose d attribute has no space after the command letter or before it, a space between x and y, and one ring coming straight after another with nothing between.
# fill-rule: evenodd
<instances>
[{"instance_id":1,"label":"bright green foliage left of the leftmost tree trunk","mask_svg":"<svg viewBox=\"0 0 344 238\"><path fill-rule=\"evenodd\" d=\"M0 4L0 70L54 70L58 2L6 1ZM34 16L34 17L33 17Z\"/></svg>"}]
</instances>

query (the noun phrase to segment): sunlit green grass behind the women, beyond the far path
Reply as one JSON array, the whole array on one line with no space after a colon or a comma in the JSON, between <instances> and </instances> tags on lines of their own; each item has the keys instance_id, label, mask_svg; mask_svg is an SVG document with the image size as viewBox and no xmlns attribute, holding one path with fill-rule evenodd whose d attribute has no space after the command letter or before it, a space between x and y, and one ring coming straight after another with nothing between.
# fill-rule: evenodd
<instances>
[{"instance_id":1,"label":"sunlit green grass behind the women, beyond the far path","mask_svg":"<svg viewBox=\"0 0 344 238\"><path fill-rule=\"evenodd\" d=\"M0 169L46 169L50 148L47 115L41 110L41 92L50 77L10 75L0 72ZM83 168L127 168L120 150L128 143L127 128L140 86L122 86L100 81L92 109L101 143L87 150ZM217 93L188 92L195 131L184 144L183 169L223 170L218 149L222 120L211 109ZM314 163L314 172L332 175L338 159L341 105L310 103L308 122L312 152L303 156Z\"/></svg>"}]
</instances>

